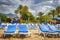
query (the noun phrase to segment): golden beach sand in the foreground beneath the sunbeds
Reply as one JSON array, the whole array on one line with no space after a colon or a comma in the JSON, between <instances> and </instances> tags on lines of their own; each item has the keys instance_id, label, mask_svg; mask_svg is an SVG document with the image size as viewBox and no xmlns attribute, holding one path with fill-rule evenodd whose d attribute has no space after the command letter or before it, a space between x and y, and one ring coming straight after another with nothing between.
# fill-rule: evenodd
<instances>
[{"instance_id":1,"label":"golden beach sand in the foreground beneath the sunbeds","mask_svg":"<svg viewBox=\"0 0 60 40\"><path fill-rule=\"evenodd\" d=\"M31 32L31 37L28 35L20 35L20 37L18 37L18 34L6 35L6 37L4 37L4 30L0 29L0 40L60 40L60 37L55 37L57 35L49 35L44 38L42 34L38 34L38 29L29 29L29 31Z\"/></svg>"}]
</instances>

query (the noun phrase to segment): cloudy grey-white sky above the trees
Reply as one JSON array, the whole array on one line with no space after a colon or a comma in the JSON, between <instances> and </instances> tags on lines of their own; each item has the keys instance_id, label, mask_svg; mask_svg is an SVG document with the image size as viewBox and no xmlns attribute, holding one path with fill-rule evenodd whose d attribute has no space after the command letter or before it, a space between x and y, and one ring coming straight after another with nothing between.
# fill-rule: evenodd
<instances>
[{"instance_id":1,"label":"cloudy grey-white sky above the trees","mask_svg":"<svg viewBox=\"0 0 60 40\"><path fill-rule=\"evenodd\" d=\"M60 5L60 0L0 0L0 13L13 13L18 5L27 5L32 14L37 15L39 11L47 13Z\"/></svg>"}]
</instances>

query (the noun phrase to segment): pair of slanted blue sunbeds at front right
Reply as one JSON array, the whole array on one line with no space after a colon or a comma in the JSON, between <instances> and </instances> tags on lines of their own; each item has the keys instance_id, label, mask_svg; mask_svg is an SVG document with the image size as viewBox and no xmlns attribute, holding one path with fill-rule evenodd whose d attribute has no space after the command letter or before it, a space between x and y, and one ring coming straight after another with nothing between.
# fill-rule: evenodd
<instances>
[{"instance_id":1,"label":"pair of slanted blue sunbeds at front right","mask_svg":"<svg viewBox=\"0 0 60 40\"><path fill-rule=\"evenodd\" d=\"M47 34L59 34L60 29L58 29L57 27L53 24L47 24L47 25L46 24L43 24L43 25L39 24L39 31L41 31L44 34L44 36L46 36Z\"/></svg>"}]
</instances>

